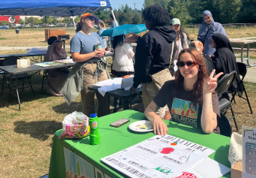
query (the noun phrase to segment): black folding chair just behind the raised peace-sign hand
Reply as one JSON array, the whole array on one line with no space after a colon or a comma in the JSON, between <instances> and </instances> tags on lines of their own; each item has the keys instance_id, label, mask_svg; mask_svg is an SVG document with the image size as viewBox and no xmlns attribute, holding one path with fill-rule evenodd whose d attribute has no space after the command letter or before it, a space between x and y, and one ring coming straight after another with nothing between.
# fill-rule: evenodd
<instances>
[{"instance_id":1,"label":"black folding chair just behind the raised peace-sign hand","mask_svg":"<svg viewBox=\"0 0 256 178\"><path fill-rule=\"evenodd\" d=\"M230 117L229 120L233 119L236 125L236 131L238 131L238 127L236 124L236 118L233 113L233 108L231 106L231 102L222 96L224 94L227 95L227 90L230 88L230 85L233 83L233 80L236 78L236 71L231 72L230 74L224 75L224 77L221 78L220 82L217 84L217 88L215 91L217 92L218 98L219 98L219 108L221 113L226 114L227 110L231 110L232 117Z\"/></svg>"}]
</instances>

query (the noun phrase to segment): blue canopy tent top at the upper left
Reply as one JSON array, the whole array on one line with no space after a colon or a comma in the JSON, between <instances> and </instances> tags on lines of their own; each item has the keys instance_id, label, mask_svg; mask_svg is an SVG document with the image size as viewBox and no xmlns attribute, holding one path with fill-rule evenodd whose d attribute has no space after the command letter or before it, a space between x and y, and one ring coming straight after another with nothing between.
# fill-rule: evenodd
<instances>
[{"instance_id":1,"label":"blue canopy tent top at the upper left","mask_svg":"<svg viewBox=\"0 0 256 178\"><path fill-rule=\"evenodd\" d=\"M110 0L5 0L1 2L0 15L70 17L106 8L113 14Z\"/></svg>"}]
</instances>

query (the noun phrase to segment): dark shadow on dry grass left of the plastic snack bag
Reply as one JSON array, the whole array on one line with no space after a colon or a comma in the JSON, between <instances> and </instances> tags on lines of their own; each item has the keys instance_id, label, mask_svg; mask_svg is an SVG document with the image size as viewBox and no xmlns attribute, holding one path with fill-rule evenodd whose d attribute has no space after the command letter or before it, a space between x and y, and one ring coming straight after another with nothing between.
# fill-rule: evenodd
<instances>
[{"instance_id":1,"label":"dark shadow on dry grass left of the plastic snack bag","mask_svg":"<svg viewBox=\"0 0 256 178\"><path fill-rule=\"evenodd\" d=\"M62 128L61 122L56 121L17 121L14 122L14 131L18 134L29 134L38 140L47 140L49 135L54 135L57 130Z\"/></svg>"}]
</instances>

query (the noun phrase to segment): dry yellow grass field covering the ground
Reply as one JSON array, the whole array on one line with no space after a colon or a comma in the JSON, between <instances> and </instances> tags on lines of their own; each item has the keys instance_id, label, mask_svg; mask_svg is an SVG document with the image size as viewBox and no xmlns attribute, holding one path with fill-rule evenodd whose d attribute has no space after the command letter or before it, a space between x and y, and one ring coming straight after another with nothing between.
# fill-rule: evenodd
<instances>
[{"instance_id":1,"label":"dry yellow grass field covering the ground","mask_svg":"<svg viewBox=\"0 0 256 178\"><path fill-rule=\"evenodd\" d=\"M16 35L14 30L2 30L0 34L1 38L7 38L0 41L0 47L14 46L14 44L28 47L47 45L44 41L43 29L20 29L19 35ZM66 34L74 35L74 29L66 29ZM253 36L254 31L233 30L233 32L227 31L227 34L233 35L233 38L237 38L236 36L248 37ZM26 53L26 50L2 51L0 49L0 54L11 53ZM111 58L107 60L112 62ZM28 85L27 81L25 84ZM29 88L24 89L23 92L20 90L21 111L18 111L17 98L10 97L8 101L8 89L4 89L0 98L0 177L36 178L48 173L52 137L55 131L62 128L64 116L75 110L82 111L80 96L68 105L62 97L46 94L46 85L41 92L41 85L42 75L35 74L32 76L32 87L35 94L32 94ZM0 86L2 86L2 75L0 75ZM245 82L245 87L254 111L256 83ZM97 99L95 101L97 103ZM113 98L110 104L113 108ZM132 109L143 112L141 98L134 99ZM256 113L249 112L246 101L236 98L233 110L239 125L239 134L241 134L242 125L255 127ZM228 114L230 115L230 113ZM231 123L235 130L233 121Z\"/></svg>"}]
</instances>

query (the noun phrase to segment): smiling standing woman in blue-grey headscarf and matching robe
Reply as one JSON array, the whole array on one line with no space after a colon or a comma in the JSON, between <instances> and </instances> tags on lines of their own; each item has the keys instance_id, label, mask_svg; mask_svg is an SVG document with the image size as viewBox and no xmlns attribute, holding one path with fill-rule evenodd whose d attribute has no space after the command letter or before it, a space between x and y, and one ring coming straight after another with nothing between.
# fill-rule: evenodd
<instances>
[{"instance_id":1,"label":"smiling standing woman in blue-grey headscarf and matching robe","mask_svg":"<svg viewBox=\"0 0 256 178\"><path fill-rule=\"evenodd\" d=\"M210 11L204 11L202 13L202 25L199 28L198 40L204 44L203 55L211 56L214 53L214 49L211 48L210 38L215 33L221 33L227 36L225 29L221 26L221 23L214 22L214 18Z\"/></svg>"}]
</instances>

